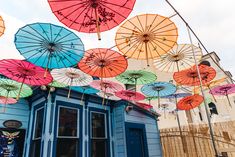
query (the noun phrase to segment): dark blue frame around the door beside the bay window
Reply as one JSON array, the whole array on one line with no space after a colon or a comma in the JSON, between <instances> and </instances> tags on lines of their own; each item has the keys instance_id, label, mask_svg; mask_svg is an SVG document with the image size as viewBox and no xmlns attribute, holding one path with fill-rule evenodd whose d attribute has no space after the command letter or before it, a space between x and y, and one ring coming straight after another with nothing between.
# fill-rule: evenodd
<instances>
[{"instance_id":1,"label":"dark blue frame around the door beside the bay window","mask_svg":"<svg viewBox=\"0 0 235 157\"><path fill-rule=\"evenodd\" d=\"M144 144L144 157L148 157L148 144L147 144L147 137L146 137L146 128L144 124L138 124L138 123L130 123L125 122L125 132L126 132L126 150L127 150L127 156L129 156L128 151L128 136L129 136L129 129L140 129L143 132L143 144Z\"/></svg>"}]
</instances>

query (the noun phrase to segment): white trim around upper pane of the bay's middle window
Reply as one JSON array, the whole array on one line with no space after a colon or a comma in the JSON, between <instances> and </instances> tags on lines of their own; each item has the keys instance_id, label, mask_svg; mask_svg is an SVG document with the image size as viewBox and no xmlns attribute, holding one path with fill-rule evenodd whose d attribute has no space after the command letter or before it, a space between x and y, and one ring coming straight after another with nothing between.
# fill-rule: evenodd
<instances>
[{"instance_id":1,"label":"white trim around upper pane of the bay's middle window","mask_svg":"<svg viewBox=\"0 0 235 157\"><path fill-rule=\"evenodd\" d=\"M59 118L60 118L60 108L67 108L67 109L73 109L77 110L77 136L59 136ZM62 106L60 105L58 107L58 115L57 115L57 127L56 127L56 138L62 139L62 138L68 138L68 139L78 139L79 138L79 131L80 131L80 126L79 126L79 116L80 116L80 110L75 107L68 107L68 106Z\"/></svg>"}]
</instances>

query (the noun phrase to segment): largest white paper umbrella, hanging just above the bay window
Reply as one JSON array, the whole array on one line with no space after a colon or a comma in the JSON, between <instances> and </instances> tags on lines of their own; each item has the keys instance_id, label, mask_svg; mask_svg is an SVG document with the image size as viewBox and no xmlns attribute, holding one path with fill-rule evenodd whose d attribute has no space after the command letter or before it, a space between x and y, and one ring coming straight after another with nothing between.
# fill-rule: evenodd
<instances>
[{"instance_id":1,"label":"largest white paper umbrella, hanging just above the bay window","mask_svg":"<svg viewBox=\"0 0 235 157\"><path fill-rule=\"evenodd\" d=\"M75 68L53 69L51 75L57 82L69 86L68 98L70 97L71 86L87 86L93 80L91 76Z\"/></svg>"}]
</instances>

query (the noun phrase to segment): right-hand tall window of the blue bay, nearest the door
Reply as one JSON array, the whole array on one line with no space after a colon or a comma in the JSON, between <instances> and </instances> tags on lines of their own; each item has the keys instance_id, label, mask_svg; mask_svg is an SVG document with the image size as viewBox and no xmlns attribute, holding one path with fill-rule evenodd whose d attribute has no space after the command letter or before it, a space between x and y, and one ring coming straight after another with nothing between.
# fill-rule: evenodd
<instances>
[{"instance_id":1,"label":"right-hand tall window of the blue bay, nearest the door","mask_svg":"<svg viewBox=\"0 0 235 157\"><path fill-rule=\"evenodd\" d=\"M91 157L107 157L106 115L91 112Z\"/></svg>"}]
</instances>

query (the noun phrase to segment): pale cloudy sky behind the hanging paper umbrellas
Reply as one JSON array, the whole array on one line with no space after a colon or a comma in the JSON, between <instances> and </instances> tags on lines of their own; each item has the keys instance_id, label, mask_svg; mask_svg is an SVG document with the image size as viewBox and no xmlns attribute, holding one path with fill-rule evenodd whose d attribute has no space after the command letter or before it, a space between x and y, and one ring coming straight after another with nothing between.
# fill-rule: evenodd
<instances>
[{"instance_id":1,"label":"pale cloudy sky behind the hanging paper umbrellas","mask_svg":"<svg viewBox=\"0 0 235 157\"><path fill-rule=\"evenodd\" d=\"M193 28L208 51L215 51L221 59L221 66L235 76L235 1L234 0L169 0ZM165 0L136 0L128 18L139 14L154 13L170 17L174 11ZM51 12L47 0L0 0L0 15L6 25L5 34L0 37L0 59L23 59L14 45L14 34L26 24L47 22L63 26ZM189 42L185 24L179 17L171 18L178 27L178 43ZM66 26L65 26L66 27ZM118 26L101 34L75 32L83 41L85 49L115 45L114 37ZM195 45L198 41L193 39ZM204 52L205 54L205 52Z\"/></svg>"}]
</instances>

